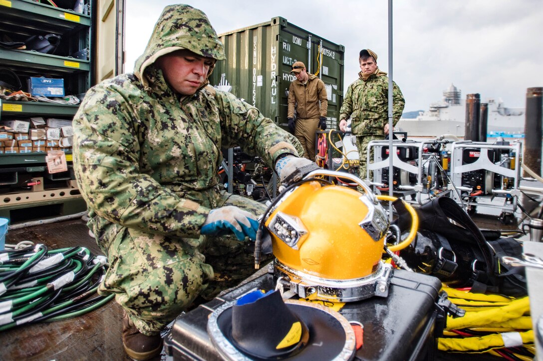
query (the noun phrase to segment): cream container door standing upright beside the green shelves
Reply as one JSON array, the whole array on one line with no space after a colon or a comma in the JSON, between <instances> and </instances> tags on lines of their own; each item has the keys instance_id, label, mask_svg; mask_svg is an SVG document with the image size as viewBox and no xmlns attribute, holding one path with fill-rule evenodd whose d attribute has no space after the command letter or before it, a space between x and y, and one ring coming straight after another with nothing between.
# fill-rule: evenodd
<instances>
[{"instance_id":1,"label":"cream container door standing upright beside the green shelves","mask_svg":"<svg viewBox=\"0 0 543 361\"><path fill-rule=\"evenodd\" d=\"M96 82L124 72L125 0L98 0L96 18Z\"/></svg>"}]
</instances>

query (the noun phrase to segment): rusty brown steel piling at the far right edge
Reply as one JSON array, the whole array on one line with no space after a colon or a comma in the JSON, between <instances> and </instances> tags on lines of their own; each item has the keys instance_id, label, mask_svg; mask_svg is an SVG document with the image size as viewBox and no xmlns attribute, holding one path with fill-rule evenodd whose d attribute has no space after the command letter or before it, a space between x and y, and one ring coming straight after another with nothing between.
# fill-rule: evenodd
<instances>
[{"instance_id":1,"label":"rusty brown steel piling at the far right edge","mask_svg":"<svg viewBox=\"0 0 543 361\"><path fill-rule=\"evenodd\" d=\"M541 175L541 107L543 87L528 88L526 91L526 121L524 125L523 163ZM526 176L526 172L524 173Z\"/></svg>"}]
</instances>

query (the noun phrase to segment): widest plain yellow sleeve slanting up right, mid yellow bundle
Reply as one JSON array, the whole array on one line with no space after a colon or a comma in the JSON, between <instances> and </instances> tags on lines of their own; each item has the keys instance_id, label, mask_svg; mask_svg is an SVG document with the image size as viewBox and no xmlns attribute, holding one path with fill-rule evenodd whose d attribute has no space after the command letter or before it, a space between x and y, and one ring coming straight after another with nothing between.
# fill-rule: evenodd
<instances>
[{"instance_id":1,"label":"widest plain yellow sleeve slanting up right, mid yellow bundle","mask_svg":"<svg viewBox=\"0 0 543 361\"><path fill-rule=\"evenodd\" d=\"M506 320L516 319L530 311L528 296L510 302L509 305L481 312L469 312L464 317L447 318L447 330L459 330L470 327L484 327L489 323L501 324Z\"/></svg>"}]
</instances>

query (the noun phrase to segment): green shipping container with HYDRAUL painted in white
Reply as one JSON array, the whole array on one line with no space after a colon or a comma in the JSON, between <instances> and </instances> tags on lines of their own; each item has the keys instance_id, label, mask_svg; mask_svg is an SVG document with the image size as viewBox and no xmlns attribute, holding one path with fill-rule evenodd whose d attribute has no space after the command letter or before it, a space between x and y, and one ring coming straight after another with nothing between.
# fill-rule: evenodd
<instances>
[{"instance_id":1,"label":"green shipping container with HYDRAUL painted in white","mask_svg":"<svg viewBox=\"0 0 543 361\"><path fill-rule=\"evenodd\" d=\"M288 87L294 62L304 62L307 71L326 85L328 129L338 128L343 100L345 47L288 23L285 18L219 34L226 60L217 62L211 85L222 77L232 94L256 106L276 124L287 128Z\"/></svg>"}]
</instances>

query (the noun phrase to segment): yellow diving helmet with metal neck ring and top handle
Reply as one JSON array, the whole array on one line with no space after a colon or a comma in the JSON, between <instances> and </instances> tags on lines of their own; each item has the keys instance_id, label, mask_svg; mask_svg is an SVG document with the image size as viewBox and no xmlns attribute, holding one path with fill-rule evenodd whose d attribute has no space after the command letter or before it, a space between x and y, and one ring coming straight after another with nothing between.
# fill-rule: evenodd
<instances>
[{"instance_id":1,"label":"yellow diving helmet with metal neck ring and top handle","mask_svg":"<svg viewBox=\"0 0 543 361\"><path fill-rule=\"evenodd\" d=\"M364 194L314 176L350 179ZM264 224L280 287L301 298L336 302L388 295L392 266L381 262L388 216L361 179L319 169L278 198Z\"/></svg>"}]
</instances>

